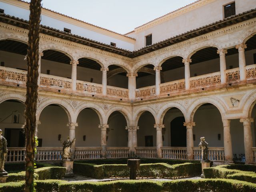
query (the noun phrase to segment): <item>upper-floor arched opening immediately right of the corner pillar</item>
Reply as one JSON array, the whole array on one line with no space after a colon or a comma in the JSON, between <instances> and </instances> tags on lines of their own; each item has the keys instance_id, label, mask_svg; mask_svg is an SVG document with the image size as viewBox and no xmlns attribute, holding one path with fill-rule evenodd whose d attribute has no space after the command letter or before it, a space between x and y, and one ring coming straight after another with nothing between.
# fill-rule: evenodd
<instances>
[{"instance_id":1,"label":"upper-floor arched opening immediately right of the corner pillar","mask_svg":"<svg viewBox=\"0 0 256 192\"><path fill-rule=\"evenodd\" d=\"M137 74L136 88L153 86L156 84L156 72L154 71L154 65L148 64L143 66L138 70Z\"/></svg>"}]
</instances>

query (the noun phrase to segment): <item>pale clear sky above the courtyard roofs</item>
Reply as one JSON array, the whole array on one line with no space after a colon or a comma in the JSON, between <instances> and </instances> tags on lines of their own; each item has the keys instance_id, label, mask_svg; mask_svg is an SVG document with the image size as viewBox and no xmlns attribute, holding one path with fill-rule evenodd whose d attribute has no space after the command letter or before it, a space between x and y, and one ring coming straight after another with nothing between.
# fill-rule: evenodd
<instances>
[{"instance_id":1,"label":"pale clear sky above the courtyard roofs","mask_svg":"<svg viewBox=\"0 0 256 192\"><path fill-rule=\"evenodd\" d=\"M30 0L26 0L30 2ZM134 28L195 0L42 0L44 8L118 32Z\"/></svg>"}]
</instances>

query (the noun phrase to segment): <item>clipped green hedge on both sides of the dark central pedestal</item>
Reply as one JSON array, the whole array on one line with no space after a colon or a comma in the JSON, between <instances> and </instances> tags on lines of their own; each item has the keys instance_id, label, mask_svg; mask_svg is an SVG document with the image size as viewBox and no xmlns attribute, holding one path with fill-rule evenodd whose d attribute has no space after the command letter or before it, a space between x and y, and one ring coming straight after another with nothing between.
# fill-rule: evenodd
<instances>
[{"instance_id":1,"label":"clipped green hedge on both sides of the dark central pedestal","mask_svg":"<svg viewBox=\"0 0 256 192\"><path fill-rule=\"evenodd\" d=\"M126 164L88 164L74 162L74 173L92 178L127 178L130 169ZM200 163L169 165L166 163L140 164L137 177L140 178L180 178L201 174Z\"/></svg>"}]
</instances>

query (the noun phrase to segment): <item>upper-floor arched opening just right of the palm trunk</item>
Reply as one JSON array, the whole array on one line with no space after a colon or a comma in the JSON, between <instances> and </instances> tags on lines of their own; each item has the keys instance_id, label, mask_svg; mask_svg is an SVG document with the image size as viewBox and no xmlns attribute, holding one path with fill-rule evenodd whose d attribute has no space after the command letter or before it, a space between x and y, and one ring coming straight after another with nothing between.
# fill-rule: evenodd
<instances>
[{"instance_id":1,"label":"upper-floor arched opening just right of the palm trunk","mask_svg":"<svg viewBox=\"0 0 256 192\"><path fill-rule=\"evenodd\" d=\"M41 73L58 77L70 78L72 65L70 57L57 50L44 50L41 57Z\"/></svg>"}]
</instances>

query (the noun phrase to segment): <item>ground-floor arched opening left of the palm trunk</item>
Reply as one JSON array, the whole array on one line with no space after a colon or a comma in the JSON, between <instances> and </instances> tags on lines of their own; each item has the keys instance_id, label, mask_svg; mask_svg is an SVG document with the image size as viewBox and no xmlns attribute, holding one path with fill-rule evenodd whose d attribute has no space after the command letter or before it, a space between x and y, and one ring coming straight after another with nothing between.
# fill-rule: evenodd
<instances>
[{"instance_id":1,"label":"ground-floor arched opening left of the palm trunk","mask_svg":"<svg viewBox=\"0 0 256 192\"><path fill-rule=\"evenodd\" d=\"M8 148L25 146L24 111L24 104L18 100L6 100L0 104L0 129Z\"/></svg>"}]
</instances>

